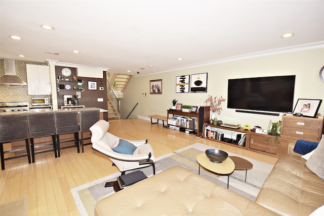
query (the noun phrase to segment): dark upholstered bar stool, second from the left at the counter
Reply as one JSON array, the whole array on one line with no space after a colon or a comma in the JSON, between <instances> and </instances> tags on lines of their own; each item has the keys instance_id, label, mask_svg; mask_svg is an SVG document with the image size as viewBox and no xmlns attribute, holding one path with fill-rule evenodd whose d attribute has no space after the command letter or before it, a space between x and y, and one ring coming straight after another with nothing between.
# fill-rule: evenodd
<instances>
[{"instance_id":1,"label":"dark upholstered bar stool, second from the left at the counter","mask_svg":"<svg viewBox=\"0 0 324 216\"><path fill-rule=\"evenodd\" d=\"M31 158L32 163L35 163L35 154L54 151L55 157L57 157L56 152L56 142L55 142L55 119L53 111L46 112L28 112L28 131L30 138L31 147ZM34 138L48 137L52 136L52 142L44 141L40 145L34 146ZM53 145L52 149L43 149L35 153L35 148L43 148L45 146Z\"/></svg>"}]
</instances>

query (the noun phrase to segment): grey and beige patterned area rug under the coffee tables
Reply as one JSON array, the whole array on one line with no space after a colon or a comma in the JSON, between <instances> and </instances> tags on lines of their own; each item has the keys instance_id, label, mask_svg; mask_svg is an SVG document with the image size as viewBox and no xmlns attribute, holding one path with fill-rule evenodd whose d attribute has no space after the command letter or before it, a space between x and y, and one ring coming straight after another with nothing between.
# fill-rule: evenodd
<instances>
[{"instance_id":1,"label":"grey and beige patterned area rug under the coffee tables","mask_svg":"<svg viewBox=\"0 0 324 216\"><path fill-rule=\"evenodd\" d=\"M156 158L156 173L177 165L191 170L192 172L198 173L199 166L196 161L196 156L204 153L205 150L210 148L212 147L201 143L195 143L172 153L160 156ZM229 156L239 156L245 158L253 164L253 169L248 170L247 182L245 182L246 171L234 171L230 175L228 189L234 191L235 193L241 194L252 201L255 201L256 196L258 195L263 182L272 170L273 165L263 163L252 158L240 156L228 151L227 153ZM143 171L148 177L152 176L152 167L143 168L141 171ZM217 176L204 169L200 169L200 175L225 188L227 187L227 176ZM79 213L81 215L94 215L95 204L99 200L114 193L112 187L104 187L105 183L115 181L118 176L120 176L119 172L72 188L71 193Z\"/></svg>"}]
</instances>

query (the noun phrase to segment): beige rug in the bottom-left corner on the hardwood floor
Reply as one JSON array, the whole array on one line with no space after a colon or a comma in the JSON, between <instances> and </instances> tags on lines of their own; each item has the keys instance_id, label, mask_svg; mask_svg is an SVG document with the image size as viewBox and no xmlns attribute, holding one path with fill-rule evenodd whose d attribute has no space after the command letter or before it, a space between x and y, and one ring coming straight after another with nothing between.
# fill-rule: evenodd
<instances>
[{"instance_id":1,"label":"beige rug in the bottom-left corner on the hardwood floor","mask_svg":"<svg viewBox=\"0 0 324 216\"><path fill-rule=\"evenodd\" d=\"M27 216L28 196L0 204L0 215Z\"/></svg>"}]
</instances>

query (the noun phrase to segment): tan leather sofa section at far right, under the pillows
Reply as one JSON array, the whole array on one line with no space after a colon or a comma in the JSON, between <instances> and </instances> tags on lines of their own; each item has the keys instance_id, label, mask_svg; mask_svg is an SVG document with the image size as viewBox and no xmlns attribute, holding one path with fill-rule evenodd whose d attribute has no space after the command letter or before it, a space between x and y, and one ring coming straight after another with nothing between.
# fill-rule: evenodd
<instances>
[{"instance_id":1,"label":"tan leather sofa section at far right, under the pillows","mask_svg":"<svg viewBox=\"0 0 324 216\"><path fill-rule=\"evenodd\" d=\"M309 215L324 205L324 180L293 152L295 143L279 157L256 198L256 203L281 215Z\"/></svg>"}]
</instances>

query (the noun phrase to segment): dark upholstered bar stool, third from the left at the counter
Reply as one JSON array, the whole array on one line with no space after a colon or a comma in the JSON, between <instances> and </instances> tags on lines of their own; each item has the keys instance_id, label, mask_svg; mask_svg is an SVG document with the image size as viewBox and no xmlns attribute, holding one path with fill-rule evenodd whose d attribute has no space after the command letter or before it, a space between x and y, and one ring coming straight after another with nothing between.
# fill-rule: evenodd
<instances>
[{"instance_id":1,"label":"dark upholstered bar stool, third from the left at the counter","mask_svg":"<svg viewBox=\"0 0 324 216\"><path fill-rule=\"evenodd\" d=\"M55 117L55 134L57 155L60 156L60 150L63 148L76 147L77 153L80 153L78 144L78 126L77 126L77 110L58 110L54 111ZM74 134L74 145L69 145L61 148L61 143L71 142L73 140L65 140L60 142L60 135Z\"/></svg>"}]
</instances>

